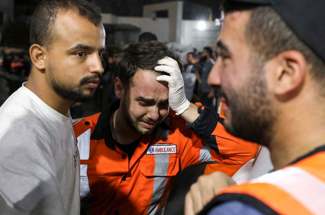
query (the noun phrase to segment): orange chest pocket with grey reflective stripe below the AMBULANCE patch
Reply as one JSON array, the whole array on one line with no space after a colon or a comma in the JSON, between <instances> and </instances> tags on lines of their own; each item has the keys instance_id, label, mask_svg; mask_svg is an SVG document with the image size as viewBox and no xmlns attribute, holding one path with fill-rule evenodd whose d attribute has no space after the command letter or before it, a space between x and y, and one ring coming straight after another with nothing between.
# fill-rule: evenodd
<instances>
[{"instance_id":1,"label":"orange chest pocket with grey reflective stripe below the AMBULANCE patch","mask_svg":"<svg viewBox=\"0 0 325 215\"><path fill-rule=\"evenodd\" d=\"M140 160L140 170L142 175L138 203L143 208L156 206L163 197L166 184L179 172L179 155L145 155ZM167 187L170 189L170 186Z\"/></svg>"}]
</instances>

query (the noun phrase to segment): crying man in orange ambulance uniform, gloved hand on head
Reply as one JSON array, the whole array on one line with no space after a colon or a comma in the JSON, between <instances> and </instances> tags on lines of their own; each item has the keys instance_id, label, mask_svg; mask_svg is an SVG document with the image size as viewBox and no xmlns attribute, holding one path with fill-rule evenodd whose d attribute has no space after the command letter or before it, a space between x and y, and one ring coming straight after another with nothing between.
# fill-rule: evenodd
<instances>
[{"instance_id":1,"label":"crying man in orange ambulance uniform, gloved hand on head","mask_svg":"<svg viewBox=\"0 0 325 215\"><path fill-rule=\"evenodd\" d=\"M158 41L126 48L114 80L119 100L73 125L82 214L162 214L185 167L255 156L257 144L228 134L215 110L188 102L182 69L179 55Z\"/></svg>"}]
</instances>

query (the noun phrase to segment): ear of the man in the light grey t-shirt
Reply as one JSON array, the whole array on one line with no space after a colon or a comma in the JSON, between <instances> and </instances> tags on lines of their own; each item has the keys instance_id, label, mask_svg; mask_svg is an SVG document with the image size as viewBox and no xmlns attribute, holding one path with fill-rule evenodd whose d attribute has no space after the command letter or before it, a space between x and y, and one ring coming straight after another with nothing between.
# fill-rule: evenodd
<instances>
[{"instance_id":1,"label":"ear of the man in the light grey t-shirt","mask_svg":"<svg viewBox=\"0 0 325 215\"><path fill-rule=\"evenodd\" d=\"M29 48L29 55L31 56L31 60L33 65L41 71L44 71L45 69L45 60L47 56L47 51L44 47L38 45L38 44L33 44Z\"/></svg>"}]
</instances>

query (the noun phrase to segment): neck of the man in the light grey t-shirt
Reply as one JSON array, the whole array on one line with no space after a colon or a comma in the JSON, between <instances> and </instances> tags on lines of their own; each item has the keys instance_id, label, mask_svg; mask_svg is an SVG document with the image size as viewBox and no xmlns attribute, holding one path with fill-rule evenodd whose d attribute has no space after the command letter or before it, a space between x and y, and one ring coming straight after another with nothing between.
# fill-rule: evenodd
<instances>
[{"instance_id":1,"label":"neck of the man in the light grey t-shirt","mask_svg":"<svg viewBox=\"0 0 325 215\"><path fill-rule=\"evenodd\" d=\"M37 79L37 81L35 81L35 79ZM37 95L46 105L52 107L64 116L67 116L69 107L74 102L59 96L48 86L44 79L33 77L32 73L25 87Z\"/></svg>"}]
</instances>

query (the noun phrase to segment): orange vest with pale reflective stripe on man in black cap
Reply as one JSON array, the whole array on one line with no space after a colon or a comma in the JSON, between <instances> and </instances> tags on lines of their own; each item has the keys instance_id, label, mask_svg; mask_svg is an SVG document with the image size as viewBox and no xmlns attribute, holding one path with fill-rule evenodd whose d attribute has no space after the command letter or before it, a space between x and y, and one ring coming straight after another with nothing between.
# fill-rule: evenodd
<instances>
[{"instance_id":1,"label":"orange vest with pale reflective stripe on man in black cap","mask_svg":"<svg viewBox=\"0 0 325 215\"><path fill-rule=\"evenodd\" d=\"M264 214L325 214L325 145L292 165L227 187L199 214L227 201L241 201Z\"/></svg>"}]
</instances>

